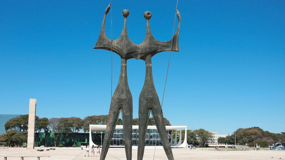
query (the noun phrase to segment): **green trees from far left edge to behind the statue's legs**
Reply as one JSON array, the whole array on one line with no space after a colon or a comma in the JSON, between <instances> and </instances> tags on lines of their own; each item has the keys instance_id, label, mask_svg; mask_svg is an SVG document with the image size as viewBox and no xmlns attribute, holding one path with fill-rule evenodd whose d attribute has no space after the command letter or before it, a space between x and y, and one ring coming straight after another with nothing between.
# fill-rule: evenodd
<instances>
[{"instance_id":1,"label":"green trees from far left edge to behind the statue's legs","mask_svg":"<svg viewBox=\"0 0 285 160\"><path fill-rule=\"evenodd\" d=\"M1 141L6 142L8 145L14 145L16 139L22 137L21 130L27 130L29 115L22 115L15 118L10 119L5 124L6 134L2 134L0 137ZM93 115L87 116L84 119L79 117L69 117L69 118L51 118L48 119L46 117L39 118L36 116L35 119L35 142L38 146L39 142L39 133L54 133L54 145L58 144L58 136L64 135L69 136L72 134L74 140L79 131L84 131L84 133L89 132L89 124L107 124L108 115ZM170 122L164 118L165 125L171 125ZM117 125L122 125L122 119L118 119ZM133 119L133 125L138 125L138 118ZM150 118L148 125L155 125L154 119ZM26 132L23 132L27 134ZM44 142L45 146L47 143L47 134L45 134ZM13 138L12 138L13 137ZM27 136L22 140L23 142L27 142ZM22 141L19 141L20 144ZM17 143L18 144L18 143Z\"/></svg>"}]
</instances>

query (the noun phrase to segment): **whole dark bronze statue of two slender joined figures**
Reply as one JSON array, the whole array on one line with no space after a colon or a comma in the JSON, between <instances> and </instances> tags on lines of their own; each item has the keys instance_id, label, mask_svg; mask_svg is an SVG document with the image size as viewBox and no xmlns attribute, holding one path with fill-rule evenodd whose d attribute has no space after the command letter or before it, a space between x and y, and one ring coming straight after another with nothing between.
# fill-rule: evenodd
<instances>
[{"instance_id":1,"label":"whole dark bronze statue of two slender joined figures","mask_svg":"<svg viewBox=\"0 0 285 160\"><path fill-rule=\"evenodd\" d=\"M152 61L151 58L155 54L163 51L179 51L178 48L178 34L180 29L180 14L176 10L178 17L178 28L175 35L170 41L157 41L152 36L150 31L149 20L151 13L149 11L144 13L144 17L147 21L147 30L145 40L139 45L133 43L127 34L126 21L129 15L128 10L123 10L124 16L124 28L116 40L110 40L105 33L105 20L106 15L110 10L111 4L105 10L100 35L94 49L112 50L121 57L121 72L117 88L112 96L109 116L107 120L107 128L105 131L104 141L102 145L102 154L100 160L104 160L109 146L111 144L114 129L119 118L119 114L122 111L123 120L123 134L127 160L132 159L132 123L133 123L133 99L131 91L128 87L127 80L127 60L131 58L142 59L145 61L146 73L145 83L140 92L139 97L139 139L138 139L138 160L142 160L145 149L145 138L147 132L147 124L150 117L150 112L154 117L155 124L157 126L161 143L164 151L169 160L173 160L173 154L171 151L170 143L168 140L166 127L164 124L164 117L161 110L161 105L157 92L154 87L152 78Z\"/></svg>"}]
</instances>

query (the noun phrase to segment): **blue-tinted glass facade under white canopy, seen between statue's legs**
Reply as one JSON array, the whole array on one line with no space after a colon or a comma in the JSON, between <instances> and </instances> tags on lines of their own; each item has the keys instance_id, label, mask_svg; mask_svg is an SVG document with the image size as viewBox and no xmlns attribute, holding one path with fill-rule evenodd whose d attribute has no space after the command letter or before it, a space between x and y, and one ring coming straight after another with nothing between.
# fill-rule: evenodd
<instances>
[{"instance_id":1,"label":"blue-tinted glass facade under white canopy, seen between statue's legs","mask_svg":"<svg viewBox=\"0 0 285 160\"><path fill-rule=\"evenodd\" d=\"M139 135L138 129L133 129L133 133L132 133L133 145L136 145L136 146L138 145L138 135ZM151 146L151 145L155 145L155 143L156 145L162 145L157 129L147 129L145 145ZM118 145L118 146L125 145L123 129L115 129L113 133L113 138L111 140L111 145Z\"/></svg>"}]
</instances>

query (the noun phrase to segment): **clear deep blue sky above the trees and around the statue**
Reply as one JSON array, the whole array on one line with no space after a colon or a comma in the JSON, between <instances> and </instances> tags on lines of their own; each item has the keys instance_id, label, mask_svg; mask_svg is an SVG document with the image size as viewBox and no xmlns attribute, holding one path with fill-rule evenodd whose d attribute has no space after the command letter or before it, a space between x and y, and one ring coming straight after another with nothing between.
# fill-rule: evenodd
<instances>
[{"instance_id":1,"label":"clear deep blue sky above the trees and around the statue","mask_svg":"<svg viewBox=\"0 0 285 160\"><path fill-rule=\"evenodd\" d=\"M39 117L106 115L111 99L111 52L94 50L110 1L0 1L0 114ZM171 39L176 1L113 0L112 33L119 37L123 9L128 35L145 38L145 11L160 41ZM163 103L172 125L220 134L259 126L285 130L285 1L178 2L180 52L171 52ZM177 18L175 24L178 24ZM111 37L111 12L106 33ZM175 30L176 30L175 26ZM152 59L162 100L169 52ZM128 60L133 117L145 63ZM113 53L113 92L120 58Z\"/></svg>"}]
</instances>

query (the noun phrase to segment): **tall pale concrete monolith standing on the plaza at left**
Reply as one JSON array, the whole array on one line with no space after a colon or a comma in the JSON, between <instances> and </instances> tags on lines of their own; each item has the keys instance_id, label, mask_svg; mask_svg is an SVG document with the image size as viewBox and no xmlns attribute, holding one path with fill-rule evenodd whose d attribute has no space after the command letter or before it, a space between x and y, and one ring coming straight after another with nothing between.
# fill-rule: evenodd
<instances>
[{"instance_id":1,"label":"tall pale concrete monolith standing on the plaza at left","mask_svg":"<svg viewBox=\"0 0 285 160\"><path fill-rule=\"evenodd\" d=\"M35 142L35 119L36 119L37 99L30 99L29 103L29 126L27 148L34 149Z\"/></svg>"}]
</instances>

